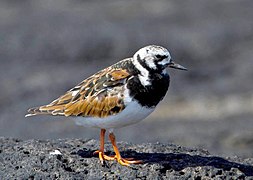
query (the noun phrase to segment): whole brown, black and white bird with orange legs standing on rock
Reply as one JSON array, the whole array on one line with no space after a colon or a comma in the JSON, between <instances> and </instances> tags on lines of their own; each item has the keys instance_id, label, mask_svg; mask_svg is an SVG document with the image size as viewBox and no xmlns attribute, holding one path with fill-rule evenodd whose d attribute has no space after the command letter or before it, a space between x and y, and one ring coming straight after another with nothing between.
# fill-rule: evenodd
<instances>
[{"instance_id":1,"label":"whole brown, black and white bird with orange legs standing on rock","mask_svg":"<svg viewBox=\"0 0 253 180\"><path fill-rule=\"evenodd\" d=\"M100 147L94 154L98 154L102 164L106 160L116 160L123 166L142 163L121 156L114 129L135 124L155 110L169 88L168 67L187 70L172 60L166 48L145 46L132 57L83 80L51 103L30 108L26 117L71 116L77 125L100 129ZM114 156L106 155L104 151L107 130Z\"/></svg>"}]
</instances>

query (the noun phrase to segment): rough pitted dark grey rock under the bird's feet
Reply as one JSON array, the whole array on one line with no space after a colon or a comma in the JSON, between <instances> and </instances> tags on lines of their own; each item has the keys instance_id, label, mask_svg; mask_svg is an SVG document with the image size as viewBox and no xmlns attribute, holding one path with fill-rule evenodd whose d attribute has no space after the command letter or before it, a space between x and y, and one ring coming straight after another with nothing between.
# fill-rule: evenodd
<instances>
[{"instance_id":1,"label":"rough pitted dark grey rock under the bird's feet","mask_svg":"<svg viewBox=\"0 0 253 180\"><path fill-rule=\"evenodd\" d=\"M101 165L91 139L18 140L0 138L0 179L253 179L253 159L223 158L173 144L119 142L123 157L144 164ZM106 144L109 154L110 144ZM58 150L61 154L52 155Z\"/></svg>"}]
</instances>

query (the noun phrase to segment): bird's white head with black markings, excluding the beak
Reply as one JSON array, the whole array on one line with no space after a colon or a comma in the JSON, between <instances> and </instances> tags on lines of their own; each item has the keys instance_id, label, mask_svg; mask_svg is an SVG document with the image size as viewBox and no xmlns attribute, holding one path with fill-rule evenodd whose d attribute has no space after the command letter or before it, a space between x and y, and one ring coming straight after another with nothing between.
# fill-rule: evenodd
<instances>
[{"instance_id":1,"label":"bird's white head with black markings, excluding the beak","mask_svg":"<svg viewBox=\"0 0 253 180\"><path fill-rule=\"evenodd\" d=\"M166 74L166 67L171 62L167 49L161 46L150 45L141 48L133 56L133 64L140 71L139 79L143 86L150 85L149 75L156 72Z\"/></svg>"}]
</instances>

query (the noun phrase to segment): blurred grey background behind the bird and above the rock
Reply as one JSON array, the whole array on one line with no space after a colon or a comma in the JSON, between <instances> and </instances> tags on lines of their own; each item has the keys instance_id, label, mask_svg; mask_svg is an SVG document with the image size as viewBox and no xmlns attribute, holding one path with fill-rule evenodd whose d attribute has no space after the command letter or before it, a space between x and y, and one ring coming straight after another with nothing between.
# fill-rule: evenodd
<instances>
[{"instance_id":1,"label":"blurred grey background behind the bird and above the rock","mask_svg":"<svg viewBox=\"0 0 253 180\"><path fill-rule=\"evenodd\" d=\"M164 101L117 140L252 157L252 9L251 0L0 0L0 136L98 139L69 118L24 116L157 44L189 71L170 70Z\"/></svg>"}]
</instances>

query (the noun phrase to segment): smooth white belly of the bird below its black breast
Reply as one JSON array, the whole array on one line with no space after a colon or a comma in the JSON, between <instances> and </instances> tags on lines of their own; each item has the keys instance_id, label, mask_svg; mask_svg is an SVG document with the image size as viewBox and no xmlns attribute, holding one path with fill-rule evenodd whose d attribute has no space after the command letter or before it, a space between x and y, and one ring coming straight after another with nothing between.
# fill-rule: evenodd
<instances>
[{"instance_id":1,"label":"smooth white belly of the bird below its black breast","mask_svg":"<svg viewBox=\"0 0 253 180\"><path fill-rule=\"evenodd\" d=\"M103 129L114 129L128 126L146 118L155 108L142 107L136 101L128 102L126 108L120 113L105 118L76 117L77 125Z\"/></svg>"}]
</instances>

